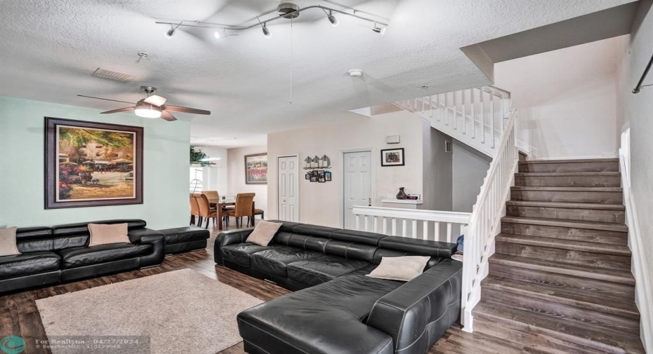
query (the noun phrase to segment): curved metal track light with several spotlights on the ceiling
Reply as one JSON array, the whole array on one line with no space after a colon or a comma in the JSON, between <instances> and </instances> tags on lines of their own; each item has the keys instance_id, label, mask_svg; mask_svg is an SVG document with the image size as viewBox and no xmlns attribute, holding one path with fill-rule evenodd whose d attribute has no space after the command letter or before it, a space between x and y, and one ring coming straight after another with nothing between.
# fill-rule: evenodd
<instances>
[{"instance_id":1,"label":"curved metal track light with several spotlights on the ceiling","mask_svg":"<svg viewBox=\"0 0 653 354\"><path fill-rule=\"evenodd\" d=\"M203 28L225 29L225 30L230 29L232 31L244 31L246 29L250 29L250 28L253 28L253 27L256 27L256 26L259 26L259 25L262 27L263 35L265 35L266 38L270 38L272 36L272 34L270 34L270 29L268 29L268 27L267 27L268 22L279 20L281 18L286 18L286 19L291 19L292 20L293 18L298 18L302 11L309 10L311 8L319 8L322 11L324 11L324 13L326 13L326 19L329 20L331 25L334 26L334 27L340 25L340 21L336 18L336 16L334 16L334 13L339 13L339 14L342 14L342 15L350 16L352 18L357 18L359 20L372 22L374 24L374 27L369 27L369 28L371 28L371 30L374 31L375 33L378 33L378 34L381 34L381 35L385 34L385 28L388 27L387 23L378 22L378 21L373 20L371 18L364 18L362 16L356 15L356 11L353 10L353 9L352 9L353 13L348 13L348 12L345 12L345 11L337 10L335 8L328 8L328 7L322 6L322 5L312 5L312 6L306 6L305 8L299 8L299 6L297 6L296 4L293 4L293 3L279 4L279 6L277 6L277 14L278 15L275 18L270 18L268 20L261 21L261 20L258 20L258 16L256 16L256 19L258 20L258 23L255 23L255 24L249 25L249 26L220 25L220 24L217 24L217 23L200 22L200 21L194 21L193 24L186 24L183 21L179 22L179 23L177 23L177 22L157 21L155 23L157 23L159 25L170 25L171 26L171 29L169 29L168 32L166 32L166 37L167 38L170 38L171 36L173 36L173 34L175 33L175 30L177 29L177 27L180 27L180 26L181 27L203 27ZM329 11L329 12L327 13L326 11ZM219 34L216 35L216 34L218 34L217 31L213 34L213 36L216 39L219 39L220 35Z\"/></svg>"}]
</instances>

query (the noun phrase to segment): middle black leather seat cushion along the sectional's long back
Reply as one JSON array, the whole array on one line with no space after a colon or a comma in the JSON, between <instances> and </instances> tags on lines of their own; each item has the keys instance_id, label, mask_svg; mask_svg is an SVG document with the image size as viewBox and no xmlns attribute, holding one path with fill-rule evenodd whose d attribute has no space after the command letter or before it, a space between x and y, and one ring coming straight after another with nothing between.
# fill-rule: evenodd
<instances>
[{"instance_id":1,"label":"middle black leather seat cushion along the sectional's long back","mask_svg":"<svg viewBox=\"0 0 653 354\"><path fill-rule=\"evenodd\" d=\"M301 250L289 246L273 246L270 250L251 255L251 267L270 275L286 278L286 266L295 261L324 255L322 252Z\"/></svg>"}]
</instances>

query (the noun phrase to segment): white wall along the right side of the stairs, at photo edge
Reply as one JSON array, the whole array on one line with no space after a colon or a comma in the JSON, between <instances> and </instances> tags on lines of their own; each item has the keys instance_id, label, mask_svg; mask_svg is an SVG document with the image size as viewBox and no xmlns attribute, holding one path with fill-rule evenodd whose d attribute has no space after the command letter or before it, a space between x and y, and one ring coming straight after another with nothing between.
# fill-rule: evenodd
<instances>
[{"instance_id":1,"label":"white wall along the right side of the stairs, at photo edge","mask_svg":"<svg viewBox=\"0 0 653 354\"><path fill-rule=\"evenodd\" d=\"M641 314L647 353L653 353L653 86L642 88L638 94L631 93L631 90L653 55L652 43L653 1L642 0L630 39L621 51L618 94L621 103L619 132L631 128L631 191L642 245L641 250L634 251L640 252L645 259L645 266L639 269L642 278L635 281L640 311L642 302L648 304L648 313ZM653 83L653 71L649 72L644 83ZM632 244L631 238L631 247Z\"/></svg>"}]
</instances>

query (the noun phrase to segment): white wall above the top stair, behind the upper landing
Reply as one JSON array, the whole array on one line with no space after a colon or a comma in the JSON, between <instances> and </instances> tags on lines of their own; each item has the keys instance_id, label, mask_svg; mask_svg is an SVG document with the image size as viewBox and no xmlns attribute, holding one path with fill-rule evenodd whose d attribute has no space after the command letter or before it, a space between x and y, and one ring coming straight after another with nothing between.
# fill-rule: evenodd
<instances>
[{"instance_id":1,"label":"white wall above the top stair, behind the upper landing","mask_svg":"<svg viewBox=\"0 0 653 354\"><path fill-rule=\"evenodd\" d=\"M619 43L624 36L499 62L495 85L512 93L529 158L616 157Z\"/></svg>"}]
</instances>

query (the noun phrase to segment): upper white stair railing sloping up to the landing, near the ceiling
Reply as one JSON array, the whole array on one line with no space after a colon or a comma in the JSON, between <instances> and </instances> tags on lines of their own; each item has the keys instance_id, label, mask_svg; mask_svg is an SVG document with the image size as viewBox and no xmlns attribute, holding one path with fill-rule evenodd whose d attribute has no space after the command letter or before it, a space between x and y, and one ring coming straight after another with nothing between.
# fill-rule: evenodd
<instances>
[{"instance_id":1,"label":"upper white stair railing sloping up to the landing, near the ceiling","mask_svg":"<svg viewBox=\"0 0 653 354\"><path fill-rule=\"evenodd\" d=\"M493 157L510 116L510 93L494 86L395 102L460 142Z\"/></svg>"}]
</instances>

